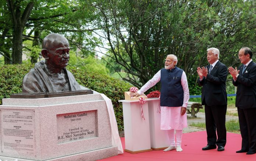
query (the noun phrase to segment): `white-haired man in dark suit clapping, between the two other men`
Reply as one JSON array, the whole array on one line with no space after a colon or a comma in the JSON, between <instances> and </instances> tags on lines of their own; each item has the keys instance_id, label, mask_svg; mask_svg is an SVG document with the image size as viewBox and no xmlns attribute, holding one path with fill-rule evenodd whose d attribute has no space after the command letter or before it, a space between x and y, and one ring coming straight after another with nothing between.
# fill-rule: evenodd
<instances>
[{"instance_id":1,"label":"white-haired man in dark suit clapping, between the two other men","mask_svg":"<svg viewBox=\"0 0 256 161\"><path fill-rule=\"evenodd\" d=\"M217 48L207 49L206 67L198 67L198 84L202 88L202 105L205 105L205 122L207 132L207 146L202 150L216 149L223 151L227 132L225 127L225 116L227 112L226 79L228 75L227 66L219 59L220 51ZM217 136L216 136L217 128Z\"/></svg>"}]
</instances>

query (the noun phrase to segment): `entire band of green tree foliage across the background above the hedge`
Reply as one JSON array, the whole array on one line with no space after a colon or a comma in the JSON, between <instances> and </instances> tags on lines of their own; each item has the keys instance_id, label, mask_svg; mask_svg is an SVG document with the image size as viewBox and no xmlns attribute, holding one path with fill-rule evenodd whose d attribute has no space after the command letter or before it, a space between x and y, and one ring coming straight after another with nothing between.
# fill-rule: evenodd
<instances>
[{"instance_id":1,"label":"entire band of green tree foliage across the background above the hedge","mask_svg":"<svg viewBox=\"0 0 256 161\"><path fill-rule=\"evenodd\" d=\"M110 72L136 87L174 54L190 94L200 94L196 67L208 64L207 48L218 48L220 61L233 67L240 64L241 47L256 49L255 0L3 0L0 14L0 54L6 64L21 63L22 52L35 63L43 37L60 33L76 52L74 66ZM85 59L96 50L105 55L109 72ZM159 89L160 83L150 90Z\"/></svg>"}]
</instances>

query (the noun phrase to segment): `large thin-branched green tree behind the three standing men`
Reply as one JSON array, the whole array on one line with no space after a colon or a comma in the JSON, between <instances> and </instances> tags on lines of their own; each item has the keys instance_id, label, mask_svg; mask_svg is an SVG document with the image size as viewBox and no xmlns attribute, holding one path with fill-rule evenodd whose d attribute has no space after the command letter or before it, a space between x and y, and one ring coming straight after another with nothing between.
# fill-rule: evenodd
<instances>
[{"instance_id":1,"label":"large thin-branched green tree behind the three standing men","mask_svg":"<svg viewBox=\"0 0 256 161\"><path fill-rule=\"evenodd\" d=\"M124 78L138 87L163 67L167 54L177 55L194 88L207 48L219 48L227 66L239 64L239 48L255 49L254 0L99 0L92 6L101 15L97 25L104 29L109 57L139 78Z\"/></svg>"}]
</instances>

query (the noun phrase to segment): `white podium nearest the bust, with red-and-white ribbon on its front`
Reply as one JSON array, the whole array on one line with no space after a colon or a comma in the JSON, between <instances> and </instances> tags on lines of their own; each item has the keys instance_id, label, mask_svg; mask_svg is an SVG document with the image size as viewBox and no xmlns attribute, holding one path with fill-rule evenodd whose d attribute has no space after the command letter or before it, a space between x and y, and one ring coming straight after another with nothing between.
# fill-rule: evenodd
<instances>
[{"instance_id":1,"label":"white podium nearest the bust, with red-and-white ribbon on its front","mask_svg":"<svg viewBox=\"0 0 256 161\"><path fill-rule=\"evenodd\" d=\"M124 151L135 154L152 151L150 148L149 110L147 100L143 107L145 120L141 117L139 100L119 100L124 116Z\"/></svg>"}]
</instances>

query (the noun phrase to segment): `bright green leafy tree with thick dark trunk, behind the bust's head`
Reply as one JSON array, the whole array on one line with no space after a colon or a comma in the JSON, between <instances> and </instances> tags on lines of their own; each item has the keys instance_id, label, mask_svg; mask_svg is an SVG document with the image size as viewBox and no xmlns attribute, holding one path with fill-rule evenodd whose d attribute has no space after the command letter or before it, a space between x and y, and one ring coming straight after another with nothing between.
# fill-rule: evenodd
<instances>
[{"instance_id":1,"label":"bright green leafy tree with thick dark trunk, behind the bust's head","mask_svg":"<svg viewBox=\"0 0 256 161\"><path fill-rule=\"evenodd\" d=\"M97 15L82 0L7 0L0 4L0 22L4 24L0 25L0 54L6 63L21 63L23 41L32 40L36 47L52 32L67 37L73 48L93 48L89 40L94 39L94 29L88 22ZM38 55L31 56L34 63Z\"/></svg>"}]
</instances>

